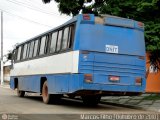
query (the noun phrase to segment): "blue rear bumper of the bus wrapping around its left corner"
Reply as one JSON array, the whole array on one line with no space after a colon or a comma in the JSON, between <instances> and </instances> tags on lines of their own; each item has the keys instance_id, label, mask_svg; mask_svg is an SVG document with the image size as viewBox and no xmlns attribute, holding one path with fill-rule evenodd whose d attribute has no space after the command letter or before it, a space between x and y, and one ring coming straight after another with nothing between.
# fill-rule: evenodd
<instances>
[{"instance_id":1,"label":"blue rear bumper of the bus wrapping around its left corner","mask_svg":"<svg viewBox=\"0 0 160 120\"><path fill-rule=\"evenodd\" d=\"M77 74L77 78L73 79L70 84L70 92L78 91L98 91L99 93L143 93L145 92L145 80L140 85L124 85L124 84L101 84L101 83L86 83L84 74ZM93 80L94 81L94 80ZM128 79L129 81L129 79ZM78 83L78 84L77 84Z\"/></svg>"}]
</instances>

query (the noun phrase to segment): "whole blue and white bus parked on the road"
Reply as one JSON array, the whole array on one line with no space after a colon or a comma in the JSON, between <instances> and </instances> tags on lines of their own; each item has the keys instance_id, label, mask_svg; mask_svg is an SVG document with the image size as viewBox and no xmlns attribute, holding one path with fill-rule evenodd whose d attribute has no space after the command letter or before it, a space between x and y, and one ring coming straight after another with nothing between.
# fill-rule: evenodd
<instances>
[{"instance_id":1,"label":"whole blue and white bus parked on the road","mask_svg":"<svg viewBox=\"0 0 160 120\"><path fill-rule=\"evenodd\" d=\"M144 25L131 19L80 14L17 45L12 58L10 87L20 97L40 93L47 104L145 91Z\"/></svg>"}]
</instances>

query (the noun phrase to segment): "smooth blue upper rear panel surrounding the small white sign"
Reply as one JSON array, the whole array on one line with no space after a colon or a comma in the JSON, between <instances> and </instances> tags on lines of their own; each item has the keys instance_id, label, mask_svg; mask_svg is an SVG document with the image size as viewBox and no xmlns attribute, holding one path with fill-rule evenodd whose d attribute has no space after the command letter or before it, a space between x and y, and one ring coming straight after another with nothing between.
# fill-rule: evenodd
<instances>
[{"instance_id":1,"label":"smooth blue upper rear panel surrounding the small white sign","mask_svg":"<svg viewBox=\"0 0 160 120\"><path fill-rule=\"evenodd\" d=\"M138 29L81 24L77 34L79 50L106 53L106 45L112 45L118 47L117 54L145 55L144 33Z\"/></svg>"}]
</instances>

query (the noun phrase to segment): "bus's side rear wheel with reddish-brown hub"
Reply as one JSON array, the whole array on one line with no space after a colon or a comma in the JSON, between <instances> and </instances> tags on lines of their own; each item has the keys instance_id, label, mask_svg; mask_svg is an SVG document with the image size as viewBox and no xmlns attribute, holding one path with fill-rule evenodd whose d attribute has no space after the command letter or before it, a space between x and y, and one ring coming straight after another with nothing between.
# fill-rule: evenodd
<instances>
[{"instance_id":1,"label":"bus's side rear wheel with reddish-brown hub","mask_svg":"<svg viewBox=\"0 0 160 120\"><path fill-rule=\"evenodd\" d=\"M42 87L42 99L45 104L57 104L60 102L61 95L49 94L48 93L48 83L45 81Z\"/></svg>"}]
</instances>

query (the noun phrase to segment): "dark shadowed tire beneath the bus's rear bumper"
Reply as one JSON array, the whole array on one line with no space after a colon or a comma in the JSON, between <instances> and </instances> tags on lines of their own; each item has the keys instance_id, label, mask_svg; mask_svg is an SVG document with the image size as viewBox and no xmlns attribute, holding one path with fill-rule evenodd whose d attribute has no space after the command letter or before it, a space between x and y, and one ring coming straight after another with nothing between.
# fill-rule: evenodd
<instances>
[{"instance_id":1,"label":"dark shadowed tire beneath the bus's rear bumper","mask_svg":"<svg viewBox=\"0 0 160 120\"><path fill-rule=\"evenodd\" d=\"M96 106L100 99L101 96L97 96L97 95L89 95L89 96L81 96L83 103L87 106Z\"/></svg>"}]
</instances>

